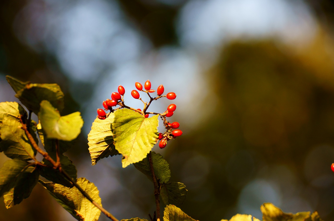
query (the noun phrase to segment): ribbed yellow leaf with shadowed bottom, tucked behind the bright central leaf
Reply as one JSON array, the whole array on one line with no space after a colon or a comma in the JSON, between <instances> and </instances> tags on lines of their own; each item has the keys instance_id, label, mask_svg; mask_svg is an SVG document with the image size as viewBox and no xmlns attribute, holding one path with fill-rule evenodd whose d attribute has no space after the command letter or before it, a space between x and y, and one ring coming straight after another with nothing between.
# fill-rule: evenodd
<instances>
[{"instance_id":1,"label":"ribbed yellow leaf with shadowed bottom, tucked behind the bright central leaf","mask_svg":"<svg viewBox=\"0 0 334 221\"><path fill-rule=\"evenodd\" d=\"M100 159L119 154L115 149L111 123L114 121L114 113L101 120L96 118L92 124L92 129L88 134L89 153L92 158L92 165Z\"/></svg>"}]
</instances>

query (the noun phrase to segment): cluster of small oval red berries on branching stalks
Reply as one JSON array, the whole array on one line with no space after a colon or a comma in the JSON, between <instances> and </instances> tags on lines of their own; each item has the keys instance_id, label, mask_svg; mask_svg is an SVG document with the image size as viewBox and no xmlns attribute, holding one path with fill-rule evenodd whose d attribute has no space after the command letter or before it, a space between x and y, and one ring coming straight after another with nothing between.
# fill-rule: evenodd
<instances>
[{"instance_id":1,"label":"cluster of small oval red berries on branching stalks","mask_svg":"<svg viewBox=\"0 0 334 221\"><path fill-rule=\"evenodd\" d=\"M174 100L176 98L176 94L174 92L170 92L170 93L167 93L166 95L162 95L164 93L164 90L165 90L163 85L160 85L156 91L152 90L151 89L151 82L149 80L147 80L144 84L144 89L145 90L143 90L143 86L139 82L135 83L135 87L138 91L145 92L150 98L149 102L144 102L140 98L139 92L137 90L132 90L131 91L131 96L134 99L139 99L144 103L144 109L143 110L141 110L139 108L134 109L134 108L128 107L124 104L123 98L124 98L124 94L125 94L125 89L122 85L120 85L120 86L118 86L118 92L113 92L111 94L111 100L107 99L106 101L104 101L102 103L104 109L98 109L97 110L97 113L98 113L97 117L99 119L104 120L109 116L109 114L111 112L114 112L115 110L121 109L121 108L127 108L127 109L137 111L138 113L142 114L146 118L149 117L149 114L159 114L161 119L163 120L164 126L166 128L166 131L164 133L159 133L159 138L158 138L160 140L159 147L162 149L166 146L168 140L175 139L175 137L182 135L182 131L180 129L177 129L180 126L180 124L178 122L170 123L169 121L166 120L166 117L170 117L174 114L174 111L176 110L176 105L175 104L169 105L167 107L167 110L163 113L148 112L147 109L150 106L150 104L152 103L152 101L158 100L159 98L163 98L163 97L166 97L169 100ZM157 92L158 96L155 97L155 98L152 98L150 93L154 93L154 92ZM114 107L116 107L116 106L119 106L119 107L114 109ZM110 110L110 112L107 114L105 112L105 110Z\"/></svg>"}]
</instances>

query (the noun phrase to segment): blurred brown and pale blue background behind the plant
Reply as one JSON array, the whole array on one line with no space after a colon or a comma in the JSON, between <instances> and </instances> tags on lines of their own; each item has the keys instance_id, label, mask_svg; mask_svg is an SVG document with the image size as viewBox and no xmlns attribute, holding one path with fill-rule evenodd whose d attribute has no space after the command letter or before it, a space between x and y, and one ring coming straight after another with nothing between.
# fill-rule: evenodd
<instances>
[{"instance_id":1,"label":"blurred brown and pale blue background behind the plant","mask_svg":"<svg viewBox=\"0 0 334 221\"><path fill-rule=\"evenodd\" d=\"M261 204L272 202L334 220L332 0L2 0L0 10L0 102L18 101L5 75L59 84L61 114L85 120L66 155L118 219L149 219L153 185L122 168L121 156L92 166L87 134L118 85L127 105L142 108L130 91L149 79L177 94L150 110L177 105L169 120L183 135L153 151L187 186L185 213L261 219ZM7 159L0 154L0 166ZM8 210L0 198L0 214L75 220L40 185Z\"/></svg>"}]
</instances>

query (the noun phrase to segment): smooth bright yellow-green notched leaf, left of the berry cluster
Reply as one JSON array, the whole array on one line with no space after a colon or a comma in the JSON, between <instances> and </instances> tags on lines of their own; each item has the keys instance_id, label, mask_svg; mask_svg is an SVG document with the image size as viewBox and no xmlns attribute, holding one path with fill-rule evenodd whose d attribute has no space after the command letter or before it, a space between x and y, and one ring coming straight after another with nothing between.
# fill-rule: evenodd
<instances>
[{"instance_id":1,"label":"smooth bright yellow-green notched leaf, left of the berry cluster","mask_svg":"<svg viewBox=\"0 0 334 221\"><path fill-rule=\"evenodd\" d=\"M38 118L47 138L70 141L79 135L83 125L80 112L60 116L50 102L42 101L40 106Z\"/></svg>"}]
</instances>

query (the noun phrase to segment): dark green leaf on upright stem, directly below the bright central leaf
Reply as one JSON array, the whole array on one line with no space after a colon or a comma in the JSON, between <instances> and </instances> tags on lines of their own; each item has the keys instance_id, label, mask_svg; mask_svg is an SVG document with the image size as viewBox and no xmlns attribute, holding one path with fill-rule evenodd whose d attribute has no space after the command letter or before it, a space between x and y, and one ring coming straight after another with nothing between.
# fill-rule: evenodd
<instances>
[{"instance_id":1,"label":"dark green leaf on upright stem, directly below the bright central leaf","mask_svg":"<svg viewBox=\"0 0 334 221\"><path fill-rule=\"evenodd\" d=\"M146 158L137 163L134 163L133 165L136 167L136 169L144 173L147 176L147 178L153 182L148 154ZM161 156L161 154L155 153L154 151L151 152L151 158L152 158L153 171L156 178L158 179L160 184L165 184L166 182L168 182L170 178L169 164Z\"/></svg>"}]
</instances>

